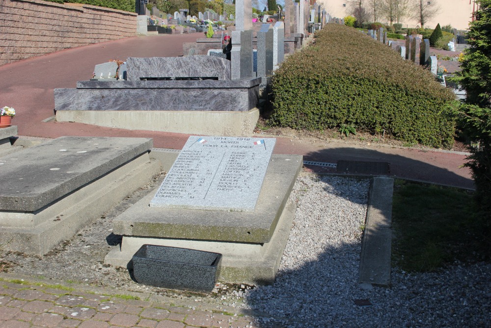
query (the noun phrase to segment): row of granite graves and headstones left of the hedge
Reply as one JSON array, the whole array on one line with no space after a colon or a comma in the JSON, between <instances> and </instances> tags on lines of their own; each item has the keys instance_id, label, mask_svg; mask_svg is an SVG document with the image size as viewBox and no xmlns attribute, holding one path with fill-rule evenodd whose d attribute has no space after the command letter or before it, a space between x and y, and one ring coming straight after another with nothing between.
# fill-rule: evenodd
<instances>
[{"instance_id":1,"label":"row of granite graves and headstones left of the hedge","mask_svg":"<svg viewBox=\"0 0 491 328\"><path fill-rule=\"evenodd\" d=\"M269 78L284 60L287 31L299 39L307 33L308 2L287 2L293 13L287 15L293 18L288 20L288 28L284 22L259 24L253 38L250 1L247 5L245 0L237 1L231 60L223 58L223 34L217 33L217 38L204 39L212 44L209 50L221 56L206 56L195 49L194 56L128 58L119 67L115 62L96 67L91 81L79 81L75 89L55 89L56 120L123 129L250 136L259 118L256 105L260 92L267 90ZM323 24L324 20L320 21ZM299 30L302 33L295 33Z\"/></svg>"}]
</instances>

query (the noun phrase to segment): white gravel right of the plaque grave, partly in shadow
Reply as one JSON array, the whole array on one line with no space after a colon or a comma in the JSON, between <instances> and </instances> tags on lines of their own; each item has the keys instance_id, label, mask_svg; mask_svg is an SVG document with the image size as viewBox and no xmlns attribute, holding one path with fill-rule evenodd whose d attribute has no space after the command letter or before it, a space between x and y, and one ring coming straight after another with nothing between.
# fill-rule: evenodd
<instances>
[{"instance_id":1,"label":"white gravel right of the plaque grave, partly in shadow","mask_svg":"<svg viewBox=\"0 0 491 328\"><path fill-rule=\"evenodd\" d=\"M490 264L455 263L417 274L393 268L391 288L357 283L368 187L368 179L297 180L290 198L297 212L277 280L246 291L242 303L268 313L258 325L491 327ZM372 306L357 306L355 299Z\"/></svg>"}]
</instances>

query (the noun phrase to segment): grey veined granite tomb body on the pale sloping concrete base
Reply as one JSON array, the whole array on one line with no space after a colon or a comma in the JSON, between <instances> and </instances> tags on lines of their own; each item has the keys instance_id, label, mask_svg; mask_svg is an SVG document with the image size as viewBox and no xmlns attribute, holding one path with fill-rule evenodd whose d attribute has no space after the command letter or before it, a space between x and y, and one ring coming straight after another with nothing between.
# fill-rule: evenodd
<instances>
[{"instance_id":1,"label":"grey veined granite tomb body on the pale sloping concrete base","mask_svg":"<svg viewBox=\"0 0 491 328\"><path fill-rule=\"evenodd\" d=\"M244 112L256 107L260 83L261 78L237 81L79 81L77 89L55 89L55 110Z\"/></svg>"}]
</instances>

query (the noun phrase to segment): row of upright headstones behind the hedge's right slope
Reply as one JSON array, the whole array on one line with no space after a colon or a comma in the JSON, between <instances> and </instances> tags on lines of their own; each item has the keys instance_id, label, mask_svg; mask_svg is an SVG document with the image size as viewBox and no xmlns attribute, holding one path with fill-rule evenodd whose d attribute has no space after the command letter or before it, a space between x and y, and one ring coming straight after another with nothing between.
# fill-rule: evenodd
<instances>
[{"instance_id":1,"label":"row of upright headstones behind the hedge's right slope","mask_svg":"<svg viewBox=\"0 0 491 328\"><path fill-rule=\"evenodd\" d=\"M459 99L465 98L465 90L455 83L447 83L445 81L445 75L438 74L438 60L436 56L430 56L430 40L422 39L420 34L408 35L406 36L404 45L400 45L388 40L387 32L383 31L383 28L379 30L368 30L367 34L373 39L394 49L398 54L401 54L402 58L429 69L444 87L450 87ZM454 42L449 42L449 47L452 51L455 51Z\"/></svg>"}]
</instances>

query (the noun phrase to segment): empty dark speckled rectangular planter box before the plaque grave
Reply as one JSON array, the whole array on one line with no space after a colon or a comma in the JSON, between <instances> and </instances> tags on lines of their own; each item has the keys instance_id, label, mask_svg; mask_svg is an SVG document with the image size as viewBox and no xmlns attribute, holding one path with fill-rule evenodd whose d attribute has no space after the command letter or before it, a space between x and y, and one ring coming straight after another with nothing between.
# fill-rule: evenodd
<instances>
[{"instance_id":1,"label":"empty dark speckled rectangular planter box before the plaque grave","mask_svg":"<svg viewBox=\"0 0 491 328\"><path fill-rule=\"evenodd\" d=\"M189 248L142 245L133 255L133 275L140 284L211 292L221 254Z\"/></svg>"}]
</instances>

